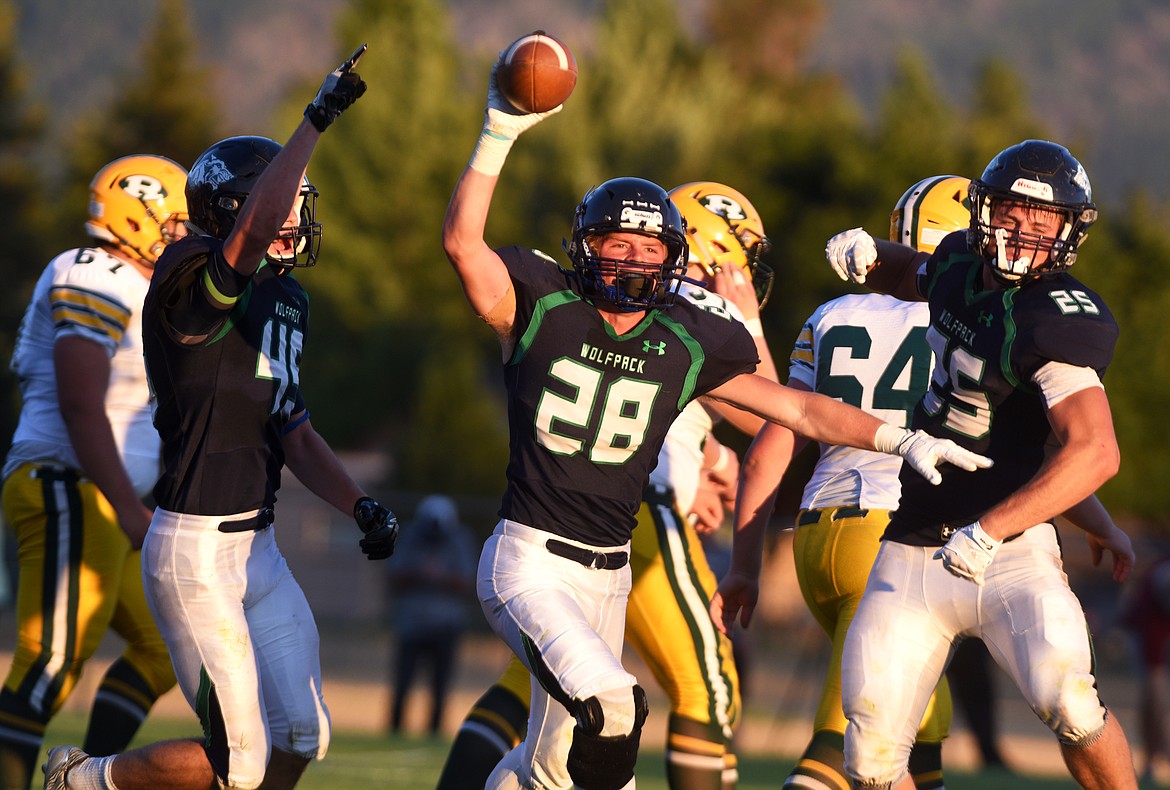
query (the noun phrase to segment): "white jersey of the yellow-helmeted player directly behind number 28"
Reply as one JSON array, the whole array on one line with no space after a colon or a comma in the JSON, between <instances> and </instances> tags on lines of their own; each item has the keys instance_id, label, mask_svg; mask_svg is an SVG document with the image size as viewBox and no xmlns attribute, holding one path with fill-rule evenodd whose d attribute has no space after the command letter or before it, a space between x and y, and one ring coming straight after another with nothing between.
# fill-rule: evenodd
<instances>
[{"instance_id":1,"label":"white jersey of the yellow-helmeted player directly behind number 28","mask_svg":"<svg viewBox=\"0 0 1170 790\"><path fill-rule=\"evenodd\" d=\"M698 286L683 283L679 296L690 300L708 312L728 321L743 322L743 314L730 301ZM690 513L703 470L703 441L715 425L715 417L697 399L691 400L670 424L659 451L658 466L651 472L651 485L674 490L675 502L683 514Z\"/></svg>"}]
</instances>

